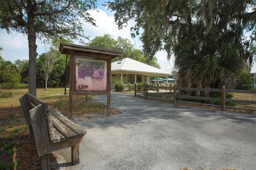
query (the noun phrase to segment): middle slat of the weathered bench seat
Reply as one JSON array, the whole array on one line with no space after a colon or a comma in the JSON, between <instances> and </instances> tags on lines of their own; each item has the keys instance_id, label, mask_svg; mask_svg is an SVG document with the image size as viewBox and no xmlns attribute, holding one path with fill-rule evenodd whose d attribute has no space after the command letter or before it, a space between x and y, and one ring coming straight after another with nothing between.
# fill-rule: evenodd
<instances>
[{"instance_id":1,"label":"middle slat of the weathered bench seat","mask_svg":"<svg viewBox=\"0 0 256 170\"><path fill-rule=\"evenodd\" d=\"M71 130L63 124L57 117L55 117L52 113L52 125L53 127L59 131L66 139L73 138L73 137L78 137L79 134L77 134L75 131Z\"/></svg>"}]
</instances>

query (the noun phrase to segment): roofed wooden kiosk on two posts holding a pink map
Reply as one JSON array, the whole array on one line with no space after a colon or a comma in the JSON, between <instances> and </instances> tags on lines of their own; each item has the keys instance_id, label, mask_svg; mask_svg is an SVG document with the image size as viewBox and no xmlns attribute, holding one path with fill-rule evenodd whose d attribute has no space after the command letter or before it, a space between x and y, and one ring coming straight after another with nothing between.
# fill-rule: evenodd
<instances>
[{"instance_id":1,"label":"roofed wooden kiosk on two posts holding a pink map","mask_svg":"<svg viewBox=\"0 0 256 170\"><path fill-rule=\"evenodd\" d=\"M60 53L70 55L69 118L73 117L74 95L107 95L110 115L111 59L122 56L115 50L60 43Z\"/></svg>"}]
</instances>

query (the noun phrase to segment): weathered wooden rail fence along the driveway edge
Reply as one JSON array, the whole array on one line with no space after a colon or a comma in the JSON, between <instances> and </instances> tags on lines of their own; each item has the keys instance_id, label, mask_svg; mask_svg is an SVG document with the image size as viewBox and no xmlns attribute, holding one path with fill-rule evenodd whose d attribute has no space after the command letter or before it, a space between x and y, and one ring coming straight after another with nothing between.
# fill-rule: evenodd
<instances>
[{"instance_id":1,"label":"weathered wooden rail fence along the driveway edge","mask_svg":"<svg viewBox=\"0 0 256 170\"><path fill-rule=\"evenodd\" d=\"M149 89L156 89L157 92L148 92ZM226 102L242 103L242 104L256 104L256 101L252 101L252 100L237 100L237 99L229 99L229 98L225 97L226 92L256 94L256 91L226 89L225 86L222 86L221 89L210 89L210 88L177 87L177 85L174 85L172 87L171 85L170 86L159 86L159 84L157 84L157 86L149 85L149 84L146 84L146 83L143 84L143 85L134 84L134 96L137 96L137 93L140 93L140 94L143 94L145 99L147 99L149 95L154 96L154 95L157 95L157 94L163 94L163 92L159 92L159 89L164 89L164 90L170 89L170 94L164 94L164 95L169 95L170 98L172 98L172 99L169 99L169 100L174 101L174 103L176 103L176 101L179 100L179 99L197 99L197 100L220 101L221 102L221 109L223 111L225 110L225 103ZM172 92L172 90L173 90L173 92ZM182 95L180 91L220 92L221 97L218 98L218 97L187 96L187 95Z\"/></svg>"}]
</instances>

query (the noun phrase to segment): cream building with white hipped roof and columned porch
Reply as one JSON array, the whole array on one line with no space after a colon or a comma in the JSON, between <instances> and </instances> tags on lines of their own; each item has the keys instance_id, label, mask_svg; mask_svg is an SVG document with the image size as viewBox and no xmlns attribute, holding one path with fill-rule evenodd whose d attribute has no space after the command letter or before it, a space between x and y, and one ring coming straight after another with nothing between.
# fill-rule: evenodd
<instances>
[{"instance_id":1,"label":"cream building with white hipped roof and columned porch","mask_svg":"<svg viewBox=\"0 0 256 170\"><path fill-rule=\"evenodd\" d=\"M116 82L126 83L149 83L150 78L156 78L155 83L158 83L158 77L168 77L171 73L141 63L131 58L124 58L117 62L111 63L111 86Z\"/></svg>"}]
</instances>

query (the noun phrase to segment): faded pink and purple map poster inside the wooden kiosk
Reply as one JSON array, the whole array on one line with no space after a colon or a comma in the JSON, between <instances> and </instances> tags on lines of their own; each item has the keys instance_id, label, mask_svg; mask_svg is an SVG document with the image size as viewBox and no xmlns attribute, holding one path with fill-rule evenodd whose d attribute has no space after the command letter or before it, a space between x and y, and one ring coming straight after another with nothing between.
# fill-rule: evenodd
<instances>
[{"instance_id":1,"label":"faded pink and purple map poster inside the wooden kiosk","mask_svg":"<svg viewBox=\"0 0 256 170\"><path fill-rule=\"evenodd\" d=\"M75 57L75 91L106 91L107 61Z\"/></svg>"}]
</instances>

